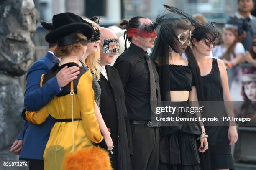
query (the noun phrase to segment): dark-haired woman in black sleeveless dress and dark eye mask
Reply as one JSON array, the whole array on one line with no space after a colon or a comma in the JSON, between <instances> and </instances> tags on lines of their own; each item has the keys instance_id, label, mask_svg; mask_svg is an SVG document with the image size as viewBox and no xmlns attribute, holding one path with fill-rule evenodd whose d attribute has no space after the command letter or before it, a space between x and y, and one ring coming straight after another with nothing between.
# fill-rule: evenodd
<instances>
[{"instance_id":1,"label":"dark-haired woman in black sleeveless dress and dark eye mask","mask_svg":"<svg viewBox=\"0 0 256 170\"><path fill-rule=\"evenodd\" d=\"M210 109L205 113L217 115L223 113L233 116L232 103L223 104L221 101L232 101L228 88L228 76L223 61L217 58L209 58L209 53L213 49L215 39L220 38L220 30L213 23L206 23L196 28L191 36L192 51L200 69L201 81L205 101L211 101ZM214 102L212 102L214 101ZM207 104L208 102L205 102ZM217 105L216 105L217 104ZM220 105L221 104L221 105ZM213 107L215 106L216 107ZM212 109L214 108L214 109ZM229 126L205 126L205 131L209 135L210 164L212 170L234 169L231 146L237 139L236 126L229 122Z\"/></svg>"}]
</instances>

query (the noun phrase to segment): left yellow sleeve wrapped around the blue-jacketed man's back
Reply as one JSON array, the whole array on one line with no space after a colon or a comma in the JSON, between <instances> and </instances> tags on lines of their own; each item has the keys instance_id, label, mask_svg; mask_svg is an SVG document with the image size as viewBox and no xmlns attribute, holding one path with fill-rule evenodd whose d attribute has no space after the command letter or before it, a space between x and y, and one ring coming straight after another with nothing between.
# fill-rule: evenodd
<instances>
[{"instance_id":1,"label":"left yellow sleeve wrapped around the blue-jacketed man's back","mask_svg":"<svg viewBox=\"0 0 256 170\"><path fill-rule=\"evenodd\" d=\"M42 74L41 76L40 87L42 87L43 85L44 75L45 74ZM45 122L46 118L49 116L46 106L41 108L39 111L31 112L26 110L25 115L26 115L26 120L33 124L42 124Z\"/></svg>"}]
</instances>

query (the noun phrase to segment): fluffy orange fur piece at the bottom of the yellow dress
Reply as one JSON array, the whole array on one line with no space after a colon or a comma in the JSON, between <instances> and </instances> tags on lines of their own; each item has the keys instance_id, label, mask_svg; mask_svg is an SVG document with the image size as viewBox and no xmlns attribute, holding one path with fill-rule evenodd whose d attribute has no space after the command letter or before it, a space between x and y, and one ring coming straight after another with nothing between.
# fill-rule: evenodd
<instances>
[{"instance_id":1,"label":"fluffy orange fur piece at the bottom of the yellow dress","mask_svg":"<svg viewBox=\"0 0 256 170\"><path fill-rule=\"evenodd\" d=\"M63 161L63 170L113 170L108 152L100 147L70 153Z\"/></svg>"}]
</instances>

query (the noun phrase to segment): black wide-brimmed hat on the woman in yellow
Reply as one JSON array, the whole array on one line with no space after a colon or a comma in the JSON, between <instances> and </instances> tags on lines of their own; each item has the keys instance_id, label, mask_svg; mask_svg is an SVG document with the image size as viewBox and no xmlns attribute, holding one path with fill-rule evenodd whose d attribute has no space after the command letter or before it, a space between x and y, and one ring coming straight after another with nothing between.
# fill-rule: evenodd
<instances>
[{"instance_id":1,"label":"black wide-brimmed hat on the woman in yellow","mask_svg":"<svg viewBox=\"0 0 256 170\"><path fill-rule=\"evenodd\" d=\"M84 20L74 13L60 13L56 14L52 18L53 30L45 36L45 40L48 43L57 43L57 40L63 39L64 37L75 33L80 32L87 37L89 40L94 32L92 25L84 23ZM74 37L74 36L71 36ZM64 38L69 41L69 44L72 44L72 40ZM58 42L59 43L59 42ZM57 44L58 44L57 43ZM60 42L62 45L69 45L63 42ZM74 41L76 43L76 41ZM59 45L58 45L59 46Z\"/></svg>"}]
</instances>

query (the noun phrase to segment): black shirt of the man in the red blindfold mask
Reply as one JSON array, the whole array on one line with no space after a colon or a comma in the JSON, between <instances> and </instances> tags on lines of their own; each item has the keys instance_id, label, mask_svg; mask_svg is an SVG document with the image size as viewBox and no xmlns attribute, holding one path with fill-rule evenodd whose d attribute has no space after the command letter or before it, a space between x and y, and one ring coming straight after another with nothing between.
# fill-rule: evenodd
<instances>
[{"instance_id":1,"label":"black shirt of the man in the red blindfold mask","mask_svg":"<svg viewBox=\"0 0 256 170\"><path fill-rule=\"evenodd\" d=\"M151 120L150 74L145 54L146 51L131 43L114 64L123 83L130 120Z\"/></svg>"}]
</instances>

